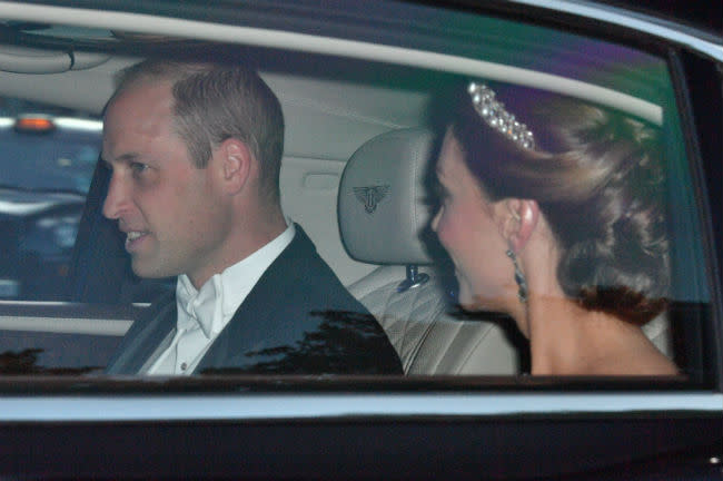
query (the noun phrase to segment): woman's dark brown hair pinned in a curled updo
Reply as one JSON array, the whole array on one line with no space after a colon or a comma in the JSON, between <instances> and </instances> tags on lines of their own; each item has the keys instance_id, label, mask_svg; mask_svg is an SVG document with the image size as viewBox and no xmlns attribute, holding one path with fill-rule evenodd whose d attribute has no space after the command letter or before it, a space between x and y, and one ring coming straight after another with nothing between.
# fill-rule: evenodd
<instances>
[{"instance_id":1,"label":"woman's dark brown hair pinned in a curled updo","mask_svg":"<svg viewBox=\"0 0 723 481\"><path fill-rule=\"evenodd\" d=\"M562 248L557 279L567 296L643 324L665 308L670 278L658 129L539 96L522 88L497 94L533 132L535 147L527 149L492 128L469 95L460 95L449 125L467 167L492 202L537 202Z\"/></svg>"}]
</instances>

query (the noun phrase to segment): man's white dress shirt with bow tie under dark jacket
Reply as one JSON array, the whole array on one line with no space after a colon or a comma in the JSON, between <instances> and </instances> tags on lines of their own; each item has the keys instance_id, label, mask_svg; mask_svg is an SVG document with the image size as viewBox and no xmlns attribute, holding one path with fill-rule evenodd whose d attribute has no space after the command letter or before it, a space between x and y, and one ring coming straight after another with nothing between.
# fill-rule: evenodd
<instances>
[{"instance_id":1,"label":"man's white dress shirt with bow tie under dark jacket","mask_svg":"<svg viewBox=\"0 0 723 481\"><path fill-rule=\"evenodd\" d=\"M187 275L178 276L176 334L146 374L189 375L194 372L264 272L294 239L294 223L287 224L278 237L222 273L215 274L200 289L194 287Z\"/></svg>"}]
</instances>

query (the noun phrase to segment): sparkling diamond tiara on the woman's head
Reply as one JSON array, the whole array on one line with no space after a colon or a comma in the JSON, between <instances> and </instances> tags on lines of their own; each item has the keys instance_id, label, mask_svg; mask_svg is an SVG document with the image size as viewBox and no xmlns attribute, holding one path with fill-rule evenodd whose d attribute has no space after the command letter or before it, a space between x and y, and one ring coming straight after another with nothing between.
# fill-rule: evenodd
<instances>
[{"instance_id":1,"label":"sparkling diamond tiara on the woman's head","mask_svg":"<svg viewBox=\"0 0 723 481\"><path fill-rule=\"evenodd\" d=\"M534 149L535 138L526 125L518 122L505 105L495 98L495 92L484 84L469 82L467 88L472 105L484 121L523 148Z\"/></svg>"}]
</instances>

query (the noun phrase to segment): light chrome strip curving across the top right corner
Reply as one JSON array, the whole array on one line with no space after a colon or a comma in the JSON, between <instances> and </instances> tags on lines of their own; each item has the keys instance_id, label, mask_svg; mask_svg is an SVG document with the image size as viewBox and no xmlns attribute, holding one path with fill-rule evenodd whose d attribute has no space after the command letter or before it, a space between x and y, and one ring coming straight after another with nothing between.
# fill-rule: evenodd
<instances>
[{"instance_id":1,"label":"light chrome strip curving across the top right corner","mask_svg":"<svg viewBox=\"0 0 723 481\"><path fill-rule=\"evenodd\" d=\"M585 17L594 20L601 20L607 23L631 28L641 32L672 40L704 53L717 61L723 61L723 38L719 38L720 43L704 40L694 35L677 30L675 23L662 19L655 19L637 12L631 12L624 9L610 6L600 6L586 1L573 0L508 0L513 3L522 3L532 7L542 7L549 10L572 13L578 17ZM693 30L692 28L689 28ZM703 32L702 32L703 33Z\"/></svg>"}]
</instances>

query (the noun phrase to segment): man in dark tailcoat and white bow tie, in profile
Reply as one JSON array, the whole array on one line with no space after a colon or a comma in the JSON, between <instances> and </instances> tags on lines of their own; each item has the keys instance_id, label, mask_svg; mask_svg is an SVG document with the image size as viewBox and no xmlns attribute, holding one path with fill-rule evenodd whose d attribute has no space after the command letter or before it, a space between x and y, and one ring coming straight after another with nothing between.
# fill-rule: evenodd
<instances>
[{"instance_id":1,"label":"man in dark tailcoat and white bow tie, in profile","mask_svg":"<svg viewBox=\"0 0 723 481\"><path fill-rule=\"evenodd\" d=\"M279 202L284 118L256 72L146 61L106 107L103 215L140 277L178 276L109 374L400 373L375 318Z\"/></svg>"}]
</instances>

